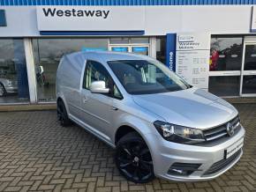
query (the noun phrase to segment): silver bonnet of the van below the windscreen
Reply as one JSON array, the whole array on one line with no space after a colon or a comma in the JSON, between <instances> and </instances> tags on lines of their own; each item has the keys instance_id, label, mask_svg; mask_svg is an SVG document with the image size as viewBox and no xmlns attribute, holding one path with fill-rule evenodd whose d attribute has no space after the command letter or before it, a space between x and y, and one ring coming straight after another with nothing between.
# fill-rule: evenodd
<instances>
[{"instance_id":1,"label":"silver bonnet of the van below the windscreen","mask_svg":"<svg viewBox=\"0 0 256 192\"><path fill-rule=\"evenodd\" d=\"M225 100L198 88L177 92L132 95L134 102L166 122L207 129L230 121L238 113Z\"/></svg>"}]
</instances>

